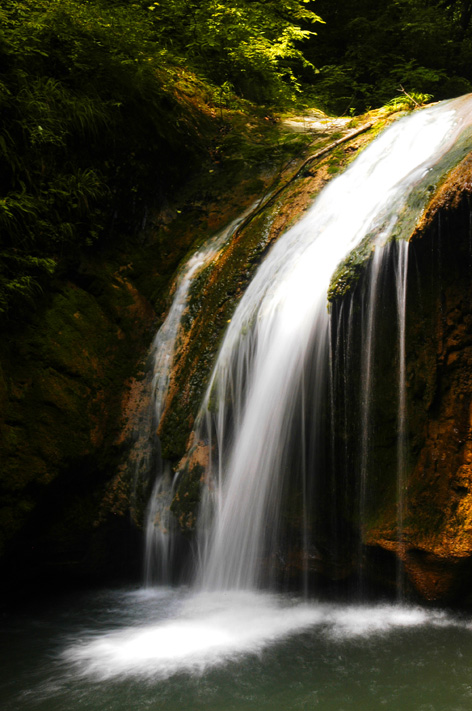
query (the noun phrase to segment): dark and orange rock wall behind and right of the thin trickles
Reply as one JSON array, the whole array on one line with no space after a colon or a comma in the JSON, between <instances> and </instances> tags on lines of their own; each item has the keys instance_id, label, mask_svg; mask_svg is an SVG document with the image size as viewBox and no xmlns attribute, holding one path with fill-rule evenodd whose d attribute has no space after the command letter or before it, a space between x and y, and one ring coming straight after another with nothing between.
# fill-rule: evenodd
<instances>
[{"instance_id":1,"label":"dark and orange rock wall behind and right of the thin trickles","mask_svg":"<svg viewBox=\"0 0 472 711\"><path fill-rule=\"evenodd\" d=\"M294 513L299 502L291 511L297 482L285 497L287 546L276 566L284 581L299 580L304 570L308 577L348 580L360 565L366 585L370 580L393 589L400 582L407 593L424 600L472 602L471 168L472 159L467 158L451 173L410 240L407 447L401 486L394 270L380 278L366 465L360 415L365 270L352 290L332 304L333 365L337 363L339 372L333 385L335 411L330 412L328 405L323 417L327 423L335 422L335 439L330 439L327 424L323 473L320 479L318 472L316 491L309 497L315 502L311 519L316 524L309 532L313 547L308 553L302 552L299 514ZM197 362L198 358L192 360ZM187 531L195 527L200 479L200 468L193 475L189 467L173 503Z\"/></svg>"}]
</instances>

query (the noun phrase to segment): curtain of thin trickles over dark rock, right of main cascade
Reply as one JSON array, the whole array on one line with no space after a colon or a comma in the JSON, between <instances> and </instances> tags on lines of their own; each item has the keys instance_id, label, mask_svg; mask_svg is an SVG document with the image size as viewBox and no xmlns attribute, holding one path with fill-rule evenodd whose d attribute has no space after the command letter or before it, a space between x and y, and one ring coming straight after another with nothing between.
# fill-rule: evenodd
<instances>
[{"instance_id":1,"label":"curtain of thin trickles over dark rock, right of main cascade","mask_svg":"<svg viewBox=\"0 0 472 711\"><path fill-rule=\"evenodd\" d=\"M389 447L385 441L385 423L387 436L396 441L389 450L393 451L391 476L397 482L391 495L397 498L399 543L402 537L406 505L403 488L408 469L405 394L408 246L406 240L393 240L377 247L359 282L345 298L333 304L332 310L335 356L331 375L334 413L331 436L335 454L330 495L337 515L344 520L344 535L339 536L334 550L345 569L353 563L357 567L360 598L367 589L365 529L377 512L377 479L387 478L385 468L379 465L379 450ZM348 521L351 526L346 525ZM332 530L336 534L335 525ZM399 567L399 590L401 581Z\"/></svg>"}]
</instances>

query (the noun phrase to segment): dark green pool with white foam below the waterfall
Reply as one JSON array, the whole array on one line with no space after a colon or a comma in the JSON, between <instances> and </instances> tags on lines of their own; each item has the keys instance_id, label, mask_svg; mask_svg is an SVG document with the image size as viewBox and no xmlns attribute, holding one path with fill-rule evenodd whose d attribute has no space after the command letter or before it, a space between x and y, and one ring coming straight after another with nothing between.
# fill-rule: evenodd
<instances>
[{"instance_id":1,"label":"dark green pool with white foam below the waterfall","mask_svg":"<svg viewBox=\"0 0 472 711\"><path fill-rule=\"evenodd\" d=\"M472 621L392 605L186 590L5 615L3 711L470 711Z\"/></svg>"}]
</instances>

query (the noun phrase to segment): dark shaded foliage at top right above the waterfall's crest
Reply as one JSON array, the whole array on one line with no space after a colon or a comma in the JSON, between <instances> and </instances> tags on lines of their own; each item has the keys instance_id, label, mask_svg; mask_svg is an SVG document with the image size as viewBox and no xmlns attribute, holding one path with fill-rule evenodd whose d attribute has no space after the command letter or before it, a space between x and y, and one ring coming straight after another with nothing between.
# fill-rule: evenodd
<instances>
[{"instance_id":1,"label":"dark shaded foliage at top right above the waterfall's crest","mask_svg":"<svg viewBox=\"0 0 472 711\"><path fill-rule=\"evenodd\" d=\"M317 0L316 9L326 24L305 54L327 109L379 106L400 85L435 99L472 90L469 0Z\"/></svg>"}]
</instances>

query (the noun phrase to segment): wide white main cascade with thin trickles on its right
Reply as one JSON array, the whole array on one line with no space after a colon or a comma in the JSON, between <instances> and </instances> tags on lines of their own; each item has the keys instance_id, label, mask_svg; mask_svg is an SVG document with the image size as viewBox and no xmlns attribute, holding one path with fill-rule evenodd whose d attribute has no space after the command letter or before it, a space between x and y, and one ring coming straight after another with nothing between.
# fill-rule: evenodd
<instances>
[{"instance_id":1,"label":"wide white main cascade with thin trickles on its right","mask_svg":"<svg viewBox=\"0 0 472 711\"><path fill-rule=\"evenodd\" d=\"M448 161L457 162L471 116L469 96L394 123L323 190L261 264L231 320L199 415L196 441L207 442L211 452L200 511L199 583L204 588L251 589L273 578L277 559L284 555L282 499L296 501L297 487L303 490L302 503L316 498L317 480L329 469L325 440L330 436L332 392L327 308L331 277L353 250L364 255L374 250L376 268L371 274L384 269L389 250L383 246L408 238L429 186ZM397 251L398 331L403 343L396 376L401 519L407 250ZM362 422L361 472L351 473L361 476L361 509L368 488L376 292L377 284L371 283L364 372L359 378L367 392L361 396L360 412L348 414ZM300 514L305 558L317 555L307 540L310 515ZM362 510L359 515L362 518Z\"/></svg>"}]
</instances>

